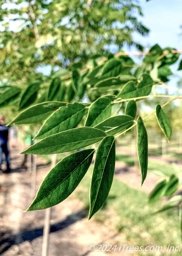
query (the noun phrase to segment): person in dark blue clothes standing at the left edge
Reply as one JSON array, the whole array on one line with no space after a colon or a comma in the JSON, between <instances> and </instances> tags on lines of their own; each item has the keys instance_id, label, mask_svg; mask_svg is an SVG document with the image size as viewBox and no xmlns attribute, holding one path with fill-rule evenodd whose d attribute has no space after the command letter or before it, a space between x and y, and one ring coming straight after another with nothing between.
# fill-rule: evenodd
<instances>
[{"instance_id":1,"label":"person in dark blue clothes standing at the left edge","mask_svg":"<svg viewBox=\"0 0 182 256\"><path fill-rule=\"evenodd\" d=\"M8 130L9 127L4 125L5 116L0 115L0 169L1 164L3 161L3 153L5 154L5 159L7 163L7 170L5 170L6 173L10 172L10 158L9 158L9 151L8 151Z\"/></svg>"}]
</instances>

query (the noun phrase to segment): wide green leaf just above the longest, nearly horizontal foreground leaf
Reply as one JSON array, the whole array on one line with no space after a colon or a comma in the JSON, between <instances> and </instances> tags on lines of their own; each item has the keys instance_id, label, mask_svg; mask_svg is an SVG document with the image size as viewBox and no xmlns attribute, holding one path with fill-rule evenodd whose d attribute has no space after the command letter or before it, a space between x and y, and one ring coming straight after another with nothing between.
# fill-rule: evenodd
<instances>
[{"instance_id":1,"label":"wide green leaf just above the longest, nearly horizontal foreground leaf","mask_svg":"<svg viewBox=\"0 0 182 256\"><path fill-rule=\"evenodd\" d=\"M51 114L34 139L43 139L58 132L75 128L85 114L85 106L80 103L68 104Z\"/></svg>"}]
</instances>

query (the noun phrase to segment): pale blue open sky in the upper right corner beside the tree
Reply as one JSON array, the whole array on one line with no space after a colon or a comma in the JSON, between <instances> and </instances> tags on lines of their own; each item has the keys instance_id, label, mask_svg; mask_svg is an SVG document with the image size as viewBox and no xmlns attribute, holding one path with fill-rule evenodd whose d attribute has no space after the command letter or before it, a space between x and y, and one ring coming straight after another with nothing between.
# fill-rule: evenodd
<instances>
[{"instance_id":1,"label":"pale blue open sky in the upper right corner beside the tree","mask_svg":"<svg viewBox=\"0 0 182 256\"><path fill-rule=\"evenodd\" d=\"M148 37L135 35L145 46L158 43L162 48L182 49L182 0L140 0L143 24L150 29Z\"/></svg>"}]
</instances>

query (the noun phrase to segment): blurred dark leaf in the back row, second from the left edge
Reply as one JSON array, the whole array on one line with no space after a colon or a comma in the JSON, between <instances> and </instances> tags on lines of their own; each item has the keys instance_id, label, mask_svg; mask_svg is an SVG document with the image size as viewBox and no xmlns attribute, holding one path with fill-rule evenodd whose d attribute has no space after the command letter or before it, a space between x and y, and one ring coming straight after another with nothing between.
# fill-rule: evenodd
<instances>
[{"instance_id":1,"label":"blurred dark leaf in the back row, second from the left edge","mask_svg":"<svg viewBox=\"0 0 182 256\"><path fill-rule=\"evenodd\" d=\"M23 95L21 96L19 110L27 108L29 105L31 105L35 101L37 97L37 91L39 90L39 88L40 88L39 83L33 83L27 87L27 89L24 91Z\"/></svg>"}]
</instances>

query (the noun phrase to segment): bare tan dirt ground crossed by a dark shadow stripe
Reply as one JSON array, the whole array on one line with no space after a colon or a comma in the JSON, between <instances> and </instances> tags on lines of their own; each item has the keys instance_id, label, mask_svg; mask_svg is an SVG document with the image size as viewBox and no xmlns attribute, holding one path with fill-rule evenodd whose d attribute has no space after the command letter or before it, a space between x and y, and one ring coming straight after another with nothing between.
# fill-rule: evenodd
<instances>
[{"instance_id":1,"label":"bare tan dirt ground crossed by a dark shadow stripe","mask_svg":"<svg viewBox=\"0 0 182 256\"><path fill-rule=\"evenodd\" d=\"M46 210L23 212L32 202L31 174L21 166L23 155L21 142L11 148L12 171L0 173L0 255L2 256L41 256L44 215ZM2 169L5 168L3 163ZM116 161L116 177L137 189L140 188L141 175L134 167ZM41 157L37 158L36 191L43 178L50 170L50 165ZM147 174L142 189L150 192L158 178ZM150 181L150 182L149 182ZM89 251L90 245L126 244L123 233L118 233L108 222L98 223L91 219L87 222L88 212L75 195L52 207L49 256L84 256L84 255L121 255L117 252ZM127 255L127 252L124 253ZM129 255L135 255L130 252Z\"/></svg>"}]
</instances>

